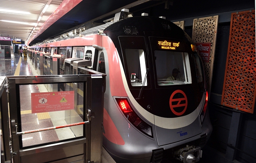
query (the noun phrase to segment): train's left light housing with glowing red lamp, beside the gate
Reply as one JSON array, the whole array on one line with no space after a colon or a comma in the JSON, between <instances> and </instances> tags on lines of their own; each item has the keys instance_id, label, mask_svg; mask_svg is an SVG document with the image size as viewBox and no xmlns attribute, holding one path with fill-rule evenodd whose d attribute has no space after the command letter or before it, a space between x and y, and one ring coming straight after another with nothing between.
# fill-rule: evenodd
<instances>
[{"instance_id":1,"label":"train's left light housing with glowing red lamp, beside the gate","mask_svg":"<svg viewBox=\"0 0 256 163\"><path fill-rule=\"evenodd\" d=\"M136 112L132 109L127 98L116 98L118 107L122 111L124 117L139 131L153 137L152 126L146 123Z\"/></svg>"}]
</instances>

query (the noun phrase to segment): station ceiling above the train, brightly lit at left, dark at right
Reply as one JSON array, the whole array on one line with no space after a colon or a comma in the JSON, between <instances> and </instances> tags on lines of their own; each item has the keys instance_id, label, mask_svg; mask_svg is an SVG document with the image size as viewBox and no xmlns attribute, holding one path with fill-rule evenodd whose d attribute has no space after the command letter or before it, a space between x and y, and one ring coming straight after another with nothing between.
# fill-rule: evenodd
<instances>
[{"instance_id":1,"label":"station ceiling above the train, brightly lit at left, dark at right","mask_svg":"<svg viewBox=\"0 0 256 163\"><path fill-rule=\"evenodd\" d=\"M255 0L0 0L0 36L31 46L82 24L104 23L122 8L172 21L255 8Z\"/></svg>"}]
</instances>

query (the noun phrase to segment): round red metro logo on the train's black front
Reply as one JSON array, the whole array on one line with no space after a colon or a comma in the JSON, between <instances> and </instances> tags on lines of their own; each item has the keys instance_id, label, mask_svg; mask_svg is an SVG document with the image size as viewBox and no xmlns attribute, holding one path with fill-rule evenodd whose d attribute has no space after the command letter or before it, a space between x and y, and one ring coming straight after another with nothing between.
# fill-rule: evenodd
<instances>
[{"instance_id":1,"label":"round red metro logo on the train's black front","mask_svg":"<svg viewBox=\"0 0 256 163\"><path fill-rule=\"evenodd\" d=\"M182 90L176 90L170 97L170 108L175 115L182 115L185 113L188 106L188 99ZM182 110L182 111L181 111Z\"/></svg>"}]
</instances>

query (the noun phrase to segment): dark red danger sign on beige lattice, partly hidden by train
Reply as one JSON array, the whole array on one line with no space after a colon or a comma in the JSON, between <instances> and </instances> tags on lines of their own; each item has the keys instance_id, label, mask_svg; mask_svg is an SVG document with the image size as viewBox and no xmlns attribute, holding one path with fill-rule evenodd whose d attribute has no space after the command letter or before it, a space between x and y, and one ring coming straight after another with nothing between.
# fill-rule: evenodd
<instances>
[{"instance_id":1,"label":"dark red danger sign on beige lattice, partly hidden by train","mask_svg":"<svg viewBox=\"0 0 256 163\"><path fill-rule=\"evenodd\" d=\"M203 62L209 62L211 43L196 43L196 49L199 52Z\"/></svg>"}]
</instances>

